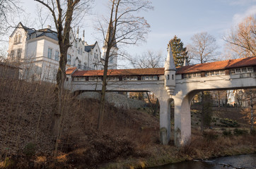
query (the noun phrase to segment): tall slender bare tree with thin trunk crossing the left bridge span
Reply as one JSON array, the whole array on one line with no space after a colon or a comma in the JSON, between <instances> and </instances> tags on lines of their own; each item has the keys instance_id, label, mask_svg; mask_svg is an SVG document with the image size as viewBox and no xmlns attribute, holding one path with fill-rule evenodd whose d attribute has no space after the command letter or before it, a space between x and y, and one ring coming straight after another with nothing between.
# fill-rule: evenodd
<instances>
[{"instance_id":1,"label":"tall slender bare tree with thin trunk crossing the left bridge span","mask_svg":"<svg viewBox=\"0 0 256 169\"><path fill-rule=\"evenodd\" d=\"M107 31L104 30L103 24L99 23L98 30L103 33L105 51L103 85L100 99L100 112L98 115L98 130L103 123L103 113L105 111L105 91L107 87L107 70L109 59L115 56L113 47L117 44L136 44L145 40L145 35L149 32L149 23L145 18L136 16L139 11L151 9L151 2L148 0L110 0L110 15L107 21ZM105 36L107 32L107 36Z\"/></svg>"}]
</instances>

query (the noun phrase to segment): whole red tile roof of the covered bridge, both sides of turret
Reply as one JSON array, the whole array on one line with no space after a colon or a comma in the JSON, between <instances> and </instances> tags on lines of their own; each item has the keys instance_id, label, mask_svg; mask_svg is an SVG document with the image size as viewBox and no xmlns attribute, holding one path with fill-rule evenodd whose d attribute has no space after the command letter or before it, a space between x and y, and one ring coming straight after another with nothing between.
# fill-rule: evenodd
<instances>
[{"instance_id":1,"label":"whole red tile roof of the covered bridge, both sides of turret","mask_svg":"<svg viewBox=\"0 0 256 169\"><path fill-rule=\"evenodd\" d=\"M197 65L186 65L176 68L176 74L198 73L210 70L223 70L230 68L242 68L256 65L256 56L250 58L238 58L227 61L217 61L211 63L202 63ZM68 68L66 74L70 75L76 68ZM143 68L143 69L115 69L108 70L107 75L163 75L164 68ZM73 76L103 76L103 70L76 70Z\"/></svg>"}]
</instances>

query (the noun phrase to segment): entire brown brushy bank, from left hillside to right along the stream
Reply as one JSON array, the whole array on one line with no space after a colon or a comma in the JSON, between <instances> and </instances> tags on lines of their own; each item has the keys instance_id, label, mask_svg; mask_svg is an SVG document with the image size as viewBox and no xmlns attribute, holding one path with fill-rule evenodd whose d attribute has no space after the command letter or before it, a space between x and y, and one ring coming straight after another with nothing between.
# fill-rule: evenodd
<instances>
[{"instance_id":1,"label":"entire brown brushy bank, from left hillside to right along the stream","mask_svg":"<svg viewBox=\"0 0 256 169\"><path fill-rule=\"evenodd\" d=\"M0 168L4 161L13 168L136 168L255 152L255 137L219 134L216 138L214 130L203 137L195 129L197 125L187 146L162 146L158 118L146 111L125 111L111 105L105 111L103 130L96 131L98 101L77 100L66 94L59 156L53 160L53 89L51 84L1 79ZM192 116L193 124L198 119L196 113Z\"/></svg>"}]
</instances>

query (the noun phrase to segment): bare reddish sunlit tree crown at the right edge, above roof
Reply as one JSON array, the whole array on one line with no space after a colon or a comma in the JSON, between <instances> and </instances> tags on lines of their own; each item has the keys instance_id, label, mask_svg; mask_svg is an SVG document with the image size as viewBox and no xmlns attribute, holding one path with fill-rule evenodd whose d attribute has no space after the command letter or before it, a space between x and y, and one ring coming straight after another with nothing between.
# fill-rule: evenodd
<instances>
[{"instance_id":1,"label":"bare reddish sunlit tree crown at the right edge, above roof","mask_svg":"<svg viewBox=\"0 0 256 169\"><path fill-rule=\"evenodd\" d=\"M243 23L231 30L229 35L223 37L226 46L238 57L256 56L256 18L249 16Z\"/></svg>"}]
</instances>

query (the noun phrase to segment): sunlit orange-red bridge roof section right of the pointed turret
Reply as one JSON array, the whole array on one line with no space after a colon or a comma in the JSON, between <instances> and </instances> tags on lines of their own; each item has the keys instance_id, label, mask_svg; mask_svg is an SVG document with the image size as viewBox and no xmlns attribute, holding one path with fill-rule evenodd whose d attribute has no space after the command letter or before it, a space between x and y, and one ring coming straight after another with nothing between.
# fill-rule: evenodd
<instances>
[{"instance_id":1,"label":"sunlit orange-red bridge roof section right of the pointed turret","mask_svg":"<svg viewBox=\"0 0 256 169\"><path fill-rule=\"evenodd\" d=\"M202 63L197 65L186 65L177 68L176 74L199 73L211 70L224 70L230 68L242 68L256 65L256 56L250 58L238 58L227 61L216 61L211 63Z\"/></svg>"}]
</instances>

